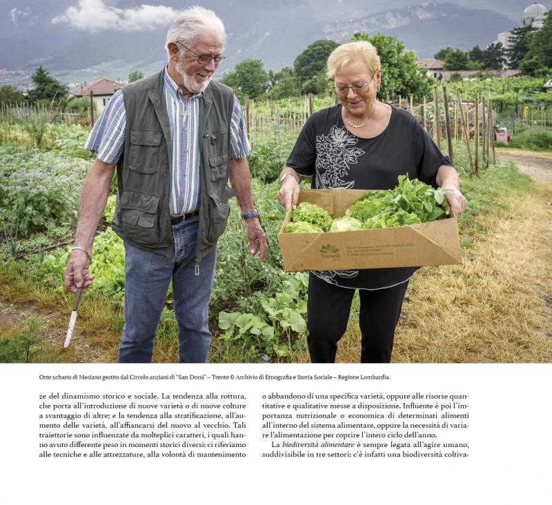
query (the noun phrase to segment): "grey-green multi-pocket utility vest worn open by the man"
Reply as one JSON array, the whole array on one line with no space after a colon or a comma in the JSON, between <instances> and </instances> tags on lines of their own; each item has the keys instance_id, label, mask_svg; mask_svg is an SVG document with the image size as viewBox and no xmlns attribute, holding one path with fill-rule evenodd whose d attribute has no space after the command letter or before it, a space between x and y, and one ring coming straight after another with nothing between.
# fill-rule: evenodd
<instances>
[{"instance_id":1,"label":"grey-green multi-pocket utility vest worn open by the man","mask_svg":"<svg viewBox=\"0 0 552 505\"><path fill-rule=\"evenodd\" d=\"M113 230L139 248L172 255L170 166L172 139L163 92L164 71L123 88L125 147L117 164ZM199 228L196 264L215 246L228 221L230 126L234 95L211 81L199 99Z\"/></svg>"}]
</instances>

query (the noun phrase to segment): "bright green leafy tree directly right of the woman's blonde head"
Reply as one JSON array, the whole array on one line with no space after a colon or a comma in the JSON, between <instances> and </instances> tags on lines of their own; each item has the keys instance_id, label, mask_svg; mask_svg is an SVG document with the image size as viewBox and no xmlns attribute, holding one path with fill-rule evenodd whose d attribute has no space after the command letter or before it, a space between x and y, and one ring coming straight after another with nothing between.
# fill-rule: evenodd
<instances>
[{"instance_id":1,"label":"bright green leafy tree directly right of the woman's blonde head","mask_svg":"<svg viewBox=\"0 0 552 505\"><path fill-rule=\"evenodd\" d=\"M431 77L418 68L413 51L404 51L404 43L393 37L375 33L370 37L366 32L355 32L348 42L365 40L370 42L380 55L382 86L380 97L423 97L431 88ZM403 52L404 51L404 52Z\"/></svg>"}]
</instances>

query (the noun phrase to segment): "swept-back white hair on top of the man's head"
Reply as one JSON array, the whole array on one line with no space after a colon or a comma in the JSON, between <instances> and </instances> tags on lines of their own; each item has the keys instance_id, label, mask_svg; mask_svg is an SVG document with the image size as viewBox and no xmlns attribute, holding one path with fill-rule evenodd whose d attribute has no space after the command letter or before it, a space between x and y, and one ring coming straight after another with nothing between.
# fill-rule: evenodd
<instances>
[{"instance_id":1,"label":"swept-back white hair on top of the man's head","mask_svg":"<svg viewBox=\"0 0 552 505\"><path fill-rule=\"evenodd\" d=\"M184 10L167 32L166 49L169 42L181 42L191 48L201 34L212 34L224 45L226 30L224 24L212 10L194 6Z\"/></svg>"}]
</instances>

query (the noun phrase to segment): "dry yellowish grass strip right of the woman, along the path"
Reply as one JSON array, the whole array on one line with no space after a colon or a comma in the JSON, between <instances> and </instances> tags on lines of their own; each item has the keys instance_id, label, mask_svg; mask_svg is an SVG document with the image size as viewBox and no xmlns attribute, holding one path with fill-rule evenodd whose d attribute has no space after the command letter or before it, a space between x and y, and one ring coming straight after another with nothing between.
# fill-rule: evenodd
<instances>
[{"instance_id":1,"label":"dry yellowish grass strip right of the woman, along the path","mask_svg":"<svg viewBox=\"0 0 552 505\"><path fill-rule=\"evenodd\" d=\"M413 277L393 362L552 362L552 188L515 166L465 179L464 265ZM355 317L337 360L357 362Z\"/></svg>"}]
</instances>

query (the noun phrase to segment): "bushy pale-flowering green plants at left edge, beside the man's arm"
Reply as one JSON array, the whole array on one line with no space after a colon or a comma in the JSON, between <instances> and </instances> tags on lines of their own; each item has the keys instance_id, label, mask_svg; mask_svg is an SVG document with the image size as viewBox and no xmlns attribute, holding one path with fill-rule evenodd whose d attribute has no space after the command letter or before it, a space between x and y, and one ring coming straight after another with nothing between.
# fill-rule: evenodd
<instances>
[{"instance_id":1,"label":"bushy pale-flowering green plants at left edge, beside the man's arm","mask_svg":"<svg viewBox=\"0 0 552 505\"><path fill-rule=\"evenodd\" d=\"M0 146L0 221L17 221L19 233L74 223L88 163L55 152Z\"/></svg>"}]
</instances>

